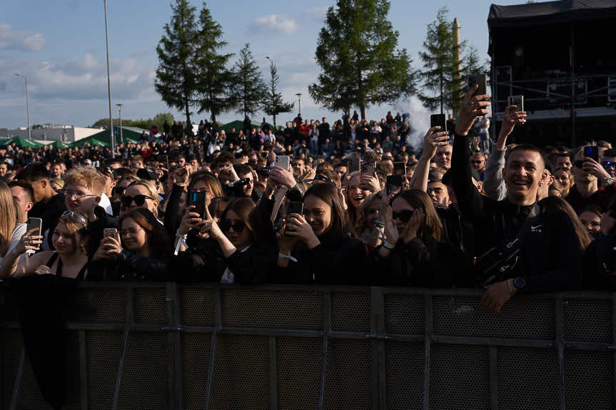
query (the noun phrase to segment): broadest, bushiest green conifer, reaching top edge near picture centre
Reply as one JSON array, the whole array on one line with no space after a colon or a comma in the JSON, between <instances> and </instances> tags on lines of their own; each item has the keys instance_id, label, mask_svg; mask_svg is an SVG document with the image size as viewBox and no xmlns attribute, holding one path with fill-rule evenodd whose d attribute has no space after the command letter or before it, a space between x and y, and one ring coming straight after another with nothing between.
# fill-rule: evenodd
<instances>
[{"instance_id":1,"label":"broadest, bushiest green conifer, reaching top edge near picture centre","mask_svg":"<svg viewBox=\"0 0 616 410\"><path fill-rule=\"evenodd\" d=\"M410 57L398 47L388 0L338 0L320 31L315 58L322 72L310 97L331 111L392 103L415 91Z\"/></svg>"}]
</instances>

